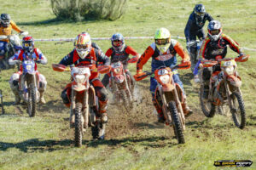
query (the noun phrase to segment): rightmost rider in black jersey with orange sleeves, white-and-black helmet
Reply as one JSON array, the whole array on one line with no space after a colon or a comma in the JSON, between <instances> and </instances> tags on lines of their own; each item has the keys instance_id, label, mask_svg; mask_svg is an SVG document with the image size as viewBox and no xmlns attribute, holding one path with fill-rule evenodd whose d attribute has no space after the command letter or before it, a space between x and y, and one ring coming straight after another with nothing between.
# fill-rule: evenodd
<instances>
[{"instance_id":1,"label":"rightmost rider in black jersey with orange sleeves, white-and-black helmet","mask_svg":"<svg viewBox=\"0 0 256 170\"><path fill-rule=\"evenodd\" d=\"M244 55L239 44L222 32L222 26L218 20L210 21L207 30L207 38L203 42L200 50L200 57L202 59L216 59L217 56L221 56L221 58L224 59L227 54L227 46L230 46L233 51L239 54L239 57ZM220 71L220 65L203 68L202 70L202 81L204 82L204 99L208 98L209 80L212 72L215 71Z\"/></svg>"}]
</instances>

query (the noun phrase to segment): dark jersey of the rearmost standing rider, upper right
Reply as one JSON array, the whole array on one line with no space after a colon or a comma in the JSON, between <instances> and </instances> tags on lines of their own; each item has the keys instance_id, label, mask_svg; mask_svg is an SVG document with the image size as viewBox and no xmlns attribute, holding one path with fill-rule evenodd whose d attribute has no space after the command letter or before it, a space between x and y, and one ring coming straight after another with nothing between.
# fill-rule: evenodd
<instances>
[{"instance_id":1,"label":"dark jersey of the rearmost standing rider, upper right","mask_svg":"<svg viewBox=\"0 0 256 170\"><path fill-rule=\"evenodd\" d=\"M207 20L208 21L213 20L212 16L207 13L204 15L204 17L201 20L197 20L194 12L189 15L189 20L184 30L187 42L191 41L192 40L191 37L198 35L200 31L203 32L202 28L203 26L205 26L205 23ZM204 33L202 34L204 35Z\"/></svg>"}]
</instances>

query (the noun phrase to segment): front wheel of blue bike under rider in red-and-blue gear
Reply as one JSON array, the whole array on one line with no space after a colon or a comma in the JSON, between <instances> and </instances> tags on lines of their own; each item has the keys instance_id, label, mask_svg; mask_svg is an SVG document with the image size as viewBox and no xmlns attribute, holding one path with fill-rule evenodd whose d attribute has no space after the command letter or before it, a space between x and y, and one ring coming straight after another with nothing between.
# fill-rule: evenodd
<instances>
[{"instance_id":1,"label":"front wheel of blue bike under rider in red-and-blue gear","mask_svg":"<svg viewBox=\"0 0 256 170\"><path fill-rule=\"evenodd\" d=\"M28 89L27 112L30 117L36 116L37 96L36 87L30 86Z\"/></svg>"}]
</instances>

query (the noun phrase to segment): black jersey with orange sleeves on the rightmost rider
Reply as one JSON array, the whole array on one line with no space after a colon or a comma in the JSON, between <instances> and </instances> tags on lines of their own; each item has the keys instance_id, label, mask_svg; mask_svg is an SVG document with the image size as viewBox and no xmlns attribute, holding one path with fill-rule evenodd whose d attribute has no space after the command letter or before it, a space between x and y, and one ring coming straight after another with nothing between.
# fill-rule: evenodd
<instances>
[{"instance_id":1,"label":"black jersey with orange sleeves on the rightmost rider","mask_svg":"<svg viewBox=\"0 0 256 170\"><path fill-rule=\"evenodd\" d=\"M221 55L224 58L227 54L227 46L235 51L241 53L241 47L237 42L222 34L217 41L212 41L210 37L207 37L202 43L199 56L203 59L215 59L216 56Z\"/></svg>"}]
</instances>

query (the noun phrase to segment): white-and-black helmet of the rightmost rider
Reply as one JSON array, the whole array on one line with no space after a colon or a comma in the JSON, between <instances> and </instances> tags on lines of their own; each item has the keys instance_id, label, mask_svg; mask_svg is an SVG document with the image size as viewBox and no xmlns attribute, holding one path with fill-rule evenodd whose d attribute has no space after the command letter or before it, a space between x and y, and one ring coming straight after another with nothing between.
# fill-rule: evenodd
<instances>
[{"instance_id":1,"label":"white-and-black helmet of the rightmost rider","mask_svg":"<svg viewBox=\"0 0 256 170\"><path fill-rule=\"evenodd\" d=\"M211 20L208 24L207 30L208 37L213 41L217 41L222 34L222 27L218 20Z\"/></svg>"}]
</instances>

